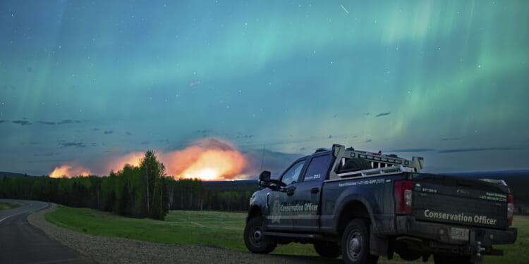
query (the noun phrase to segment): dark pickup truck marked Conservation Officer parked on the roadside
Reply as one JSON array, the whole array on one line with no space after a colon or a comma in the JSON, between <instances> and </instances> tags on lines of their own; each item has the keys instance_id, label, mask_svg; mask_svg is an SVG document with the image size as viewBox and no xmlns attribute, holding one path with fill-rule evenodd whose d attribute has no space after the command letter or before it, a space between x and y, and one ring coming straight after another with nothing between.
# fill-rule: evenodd
<instances>
[{"instance_id":1,"label":"dark pickup truck marked Conservation Officer parked on the roadside","mask_svg":"<svg viewBox=\"0 0 529 264\"><path fill-rule=\"evenodd\" d=\"M423 160L334 145L294 162L279 177L264 171L244 231L253 253L311 243L320 256L377 263L433 256L481 263L512 244L513 197L505 182L420 173Z\"/></svg>"}]
</instances>

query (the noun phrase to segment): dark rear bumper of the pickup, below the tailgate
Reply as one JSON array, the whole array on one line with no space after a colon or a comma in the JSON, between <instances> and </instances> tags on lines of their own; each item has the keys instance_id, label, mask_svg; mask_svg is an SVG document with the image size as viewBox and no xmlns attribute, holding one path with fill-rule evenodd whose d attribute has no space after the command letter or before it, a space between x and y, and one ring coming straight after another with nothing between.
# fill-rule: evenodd
<instances>
[{"instance_id":1,"label":"dark rear bumper of the pickup, below the tailgate","mask_svg":"<svg viewBox=\"0 0 529 264\"><path fill-rule=\"evenodd\" d=\"M452 228L468 229L468 239L452 239L450 235ZM417 221L409 215L396 216L396 233L406 237L427 239L447 245L475 246L480 242L481 246L485 247L490 247L494 244L513 244L518 236L518 230L513 227L508 230L492 230L481 227L437 224Z\"/></svg>"}]
</instances>

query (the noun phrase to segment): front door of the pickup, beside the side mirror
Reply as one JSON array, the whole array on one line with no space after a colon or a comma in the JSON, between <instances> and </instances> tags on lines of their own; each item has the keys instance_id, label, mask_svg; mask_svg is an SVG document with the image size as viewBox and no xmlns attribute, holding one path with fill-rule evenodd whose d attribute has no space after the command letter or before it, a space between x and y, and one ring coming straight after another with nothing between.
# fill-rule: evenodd
<instances>
[{"instance_id":1,"label":"front door of the pickup, beside the side mirror","mask_svg":"<svg viewBox=\"0 0 529 264\"><path fill-rule=\"evenodd\" d=\"M292 230L293 191L296 189L305 161L305 159L297 161L281 175L283 187L280 191L270 191L267 194L269 214L266 225L269 230Z\"/></svg>"}]
</instances>

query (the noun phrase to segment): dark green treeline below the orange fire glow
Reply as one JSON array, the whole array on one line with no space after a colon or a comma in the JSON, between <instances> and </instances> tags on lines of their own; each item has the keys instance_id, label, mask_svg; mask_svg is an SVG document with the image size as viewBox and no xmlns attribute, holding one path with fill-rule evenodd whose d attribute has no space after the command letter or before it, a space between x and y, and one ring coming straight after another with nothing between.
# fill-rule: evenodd
<instances>
[{"instance_id":1,"label":"dark green treeline below the orange fire glow","mask_svg":"<svg viewBox=\"0 0 529 264\"><path fill-rule=\"evenodd\" d=\"M207 189L200 180L174 180L165 175L164 165L152 151L145 153L138 167L125 165L107 177L3 176L0 181L0 198L50 201L159 220L169 209L248 210L251 194Z\"/></svg>"}]
</instances>

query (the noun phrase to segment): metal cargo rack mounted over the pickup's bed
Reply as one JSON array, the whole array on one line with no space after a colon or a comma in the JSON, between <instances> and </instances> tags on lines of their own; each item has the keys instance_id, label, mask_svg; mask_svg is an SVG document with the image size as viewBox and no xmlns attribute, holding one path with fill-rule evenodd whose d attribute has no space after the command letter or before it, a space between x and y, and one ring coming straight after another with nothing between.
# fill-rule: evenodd
<instances>
[{"instance_id":1,"label":"metal cargo rack mounted over the pickup's bed","mask_svg":"<svg viewBox=\"0 0 529 264\"><path fill-rule=\"evenodd\" d=\"M424 164L424 158L412 157L411 161L399 158L393 154L372 153L368 151L357 151L353 148L346 149L345 146L334 144L332 153L336 157L332 170L329 172L328 181L344 180L351 177L372 177L379 175L399 174L402 172L420 172ZM343 172L340 168L351 158L357 158L370 163L371 168Z\"/></svg>"}]
</instances>

